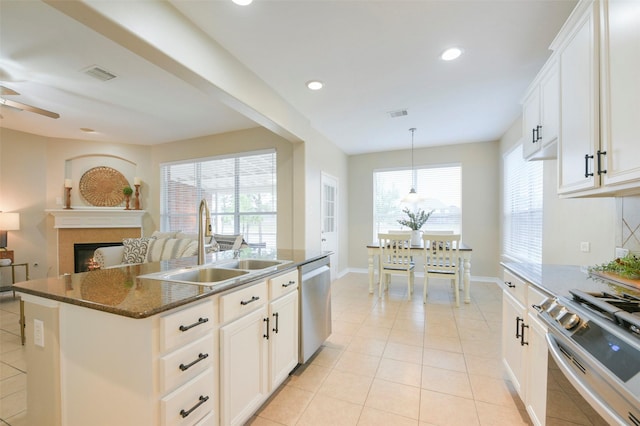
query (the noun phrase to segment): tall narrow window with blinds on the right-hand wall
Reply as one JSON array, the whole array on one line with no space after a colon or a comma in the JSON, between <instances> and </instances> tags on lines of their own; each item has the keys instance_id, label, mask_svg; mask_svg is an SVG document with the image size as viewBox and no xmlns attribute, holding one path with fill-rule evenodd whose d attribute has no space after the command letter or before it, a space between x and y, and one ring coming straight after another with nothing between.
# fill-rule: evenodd
<instances>
[{"instance_id":1,"label":"tall narrow window with blinds on the right-hand wall","mask_svg":"<svg viewBox=\"0 0 640 426\"><path fill-rule=\"evenodd\" d=\"M503 251L542 262L542 162L525 161L522 147L504 155Z\"/></svg>"}]
</instances>

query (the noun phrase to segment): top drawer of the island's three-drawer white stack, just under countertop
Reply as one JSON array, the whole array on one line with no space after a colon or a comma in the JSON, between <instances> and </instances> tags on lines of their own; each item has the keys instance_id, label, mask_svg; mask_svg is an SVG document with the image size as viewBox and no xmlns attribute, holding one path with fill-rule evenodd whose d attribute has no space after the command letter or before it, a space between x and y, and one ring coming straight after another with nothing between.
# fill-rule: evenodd
<instances>
[{"instance_id":1,"label":"top drawer of the island's three-drawer white stack, just under countertop","mask_svg":"<svg viewBox=\"0 0 640 426\"><path fill-rule=\"evenodd\" d=\"M182 346L203 336L213 329L215 320L211 301L160 317L160 351Z\"/></svg>"}]
</instances>

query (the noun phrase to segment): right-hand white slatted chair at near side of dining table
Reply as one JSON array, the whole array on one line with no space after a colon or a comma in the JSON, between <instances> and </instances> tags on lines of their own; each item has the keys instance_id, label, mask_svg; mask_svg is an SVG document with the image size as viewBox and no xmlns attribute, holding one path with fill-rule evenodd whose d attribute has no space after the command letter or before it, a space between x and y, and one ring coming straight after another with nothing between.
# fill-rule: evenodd
<instances>
[{"instance_id":1,"label":"right-hand white slatted chair at near side of dining table","mask_svg":"<svg viewBox=\"0 0 640 426\"><path fill-rule=\"evenodd\" d=\"M424 247L424 287L422 301L427 303L429 278L451 280L456 307L460 306L458 281L460 278L459 257L460 234L423 234Z\"/></svg>"}]
</instances>

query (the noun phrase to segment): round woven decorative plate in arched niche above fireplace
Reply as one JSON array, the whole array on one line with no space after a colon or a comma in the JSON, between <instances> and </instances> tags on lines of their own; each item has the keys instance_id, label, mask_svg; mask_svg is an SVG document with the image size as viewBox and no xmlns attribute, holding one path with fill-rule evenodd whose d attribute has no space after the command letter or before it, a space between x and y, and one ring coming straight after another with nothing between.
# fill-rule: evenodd
<instances>
[{"instance_id":1,"label":"round woven decorative plate in arched niche above fireplace","mask_svg":"<svg viewBox=\"0 0 640 426\"><path fill-rule=\"evenodd\" d=\"M119 171L106 166L94 167L80 178L80 195L92 206L115 207L124 201L122 188L128 185Z\"/></svg>"}]
</instances>

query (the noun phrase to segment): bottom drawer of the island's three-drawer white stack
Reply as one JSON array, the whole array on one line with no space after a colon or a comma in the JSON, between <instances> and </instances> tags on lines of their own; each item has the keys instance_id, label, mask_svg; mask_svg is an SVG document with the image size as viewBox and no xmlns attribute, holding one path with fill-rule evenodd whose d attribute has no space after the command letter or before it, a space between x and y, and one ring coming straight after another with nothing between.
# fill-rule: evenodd
<instances>
[{"instance_id":1,"label":"bottom drawer of the island's three-drawer white stack","mask_svg":"<svg viewBox=\"0 0 640 426\"><path fill-rule=\"evenodd\" d=\"M214 375L209 368L160 400L163 425L194 425L214 409Z\"/></svg>"}]
</instances>

